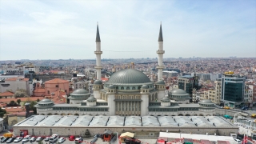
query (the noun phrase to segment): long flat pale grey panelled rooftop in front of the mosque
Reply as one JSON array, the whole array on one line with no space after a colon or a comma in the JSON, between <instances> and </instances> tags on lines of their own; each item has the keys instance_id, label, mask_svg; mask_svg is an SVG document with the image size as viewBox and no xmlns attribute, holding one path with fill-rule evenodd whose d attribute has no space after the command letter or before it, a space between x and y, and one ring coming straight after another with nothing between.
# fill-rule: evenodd
<instances>
[{"instance_id":1,"label":"long flat pale grey panelled rooftop in front of the mosque","mask_svg":"<svg viewBox=\"0 0 256 144\"><path fill-rule=\"evenodd\" d=\"M218 116L91 116L91 115L33 115L14 126L89 126L89 127L237 127Z\"/></svg>"}]
</instances>

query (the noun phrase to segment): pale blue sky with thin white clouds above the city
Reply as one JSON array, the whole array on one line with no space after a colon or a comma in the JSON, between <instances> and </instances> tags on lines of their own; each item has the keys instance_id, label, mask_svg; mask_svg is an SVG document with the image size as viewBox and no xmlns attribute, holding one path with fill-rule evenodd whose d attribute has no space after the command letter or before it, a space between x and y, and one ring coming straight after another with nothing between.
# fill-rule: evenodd
<instances>
[{"instance_id":1,"label":"pale blue sky with thin white clouds above the city","mask_svg":"<svg viewBox=\"0 0 256 144\"><path fill-rule=\"evenodd\" d=\"M0 0L0 61L256 58L255 0Z\"/></svg>"}]
</instances>

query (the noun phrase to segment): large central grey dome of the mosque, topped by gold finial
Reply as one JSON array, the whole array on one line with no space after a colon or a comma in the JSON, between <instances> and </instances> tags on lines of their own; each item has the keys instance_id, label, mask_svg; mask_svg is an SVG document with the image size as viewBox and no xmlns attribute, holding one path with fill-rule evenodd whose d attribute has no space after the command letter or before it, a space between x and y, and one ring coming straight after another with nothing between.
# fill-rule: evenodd
<instances>
[{"instance_id":1,"label":"large central grey dome of the mosque, topped by gold finial","mask_svg":"<svg viewBox=\"0 0 256 144\"><path fill-rule=\"evenodd\" d=\"M125 69L119 70L111 75L110 79L106 84L131 84L131 83L147 83L151 82L150 78L146 74L139 70Z\"/></svg>"}]
</instances>

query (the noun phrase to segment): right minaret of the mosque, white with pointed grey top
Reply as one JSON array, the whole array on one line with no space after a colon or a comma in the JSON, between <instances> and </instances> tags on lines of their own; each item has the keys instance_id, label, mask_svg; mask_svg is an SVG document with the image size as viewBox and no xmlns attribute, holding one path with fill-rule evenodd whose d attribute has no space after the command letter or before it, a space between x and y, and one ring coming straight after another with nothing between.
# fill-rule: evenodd
<instances>
[{"instance_id":1,"label":"right minaret of the mosque, white with pointed grey top","mask_svg":"<svg viewBox=\"0 0 256 144\"><path fill-rule=\"evenodd\" d=\"M164 66L162 65L162 54L165 54L165 50L162 50L162 23L160 24L160 32L158 37L158 66L156 67L158 69L158 81L162 80L162 69Z\"/></svg>"}]
</instances>

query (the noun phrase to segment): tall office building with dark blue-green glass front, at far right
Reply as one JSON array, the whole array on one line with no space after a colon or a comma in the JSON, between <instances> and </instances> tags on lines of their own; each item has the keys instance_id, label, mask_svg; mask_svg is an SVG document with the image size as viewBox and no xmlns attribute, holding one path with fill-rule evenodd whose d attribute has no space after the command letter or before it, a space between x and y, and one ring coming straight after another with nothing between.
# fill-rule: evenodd
<instances>
[{"instance_id":1,"label":"tall office building with dark blue-green glass front, at far right","mask_svg":"<svg viewBox=\"0 0 256 144\"><path fill-rule=\"evenodd\" d=\"M223 74L222 103L230 107L241 106L245 92L245 81L244 76Z\"/></svg>"}]
</instances>

